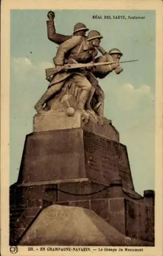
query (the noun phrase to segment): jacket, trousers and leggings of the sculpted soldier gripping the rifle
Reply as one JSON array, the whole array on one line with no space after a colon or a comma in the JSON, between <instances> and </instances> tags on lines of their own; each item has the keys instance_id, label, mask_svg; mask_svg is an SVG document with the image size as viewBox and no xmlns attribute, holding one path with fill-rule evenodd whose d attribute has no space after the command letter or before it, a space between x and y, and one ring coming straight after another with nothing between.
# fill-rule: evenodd
<instances>
[{"instance_id":1,"label":"jacket, trousers and leggings of the sculpted soldier gripping the rifle","mask_svg":"<svg viewBox=\"0 0 163 256\"><path fill-rule=\"evenodd\" d=\"M95 47L90 47L89 41L87 41L82 36L73 36L59 46L57 55L54 58L54 62L56 66L62 66L65 63L69 63L71 60L78 63L88 63L94 61L96 55L97 49ZM44 112L42 108L43 104L53 94L57 93L62 89L65 79L67 79L68 77L71 78L71 81L73 81L77 87L82 89L82 92L79 96L80 98L78 108L80 110L83 110L92 87L90 81L87 78L88 73L89 72L87 71L74 71L64 72L55 75L50 82L50 87L35 105L35 109L37 110L37 112Z\"/></svg>"}]
</instances>

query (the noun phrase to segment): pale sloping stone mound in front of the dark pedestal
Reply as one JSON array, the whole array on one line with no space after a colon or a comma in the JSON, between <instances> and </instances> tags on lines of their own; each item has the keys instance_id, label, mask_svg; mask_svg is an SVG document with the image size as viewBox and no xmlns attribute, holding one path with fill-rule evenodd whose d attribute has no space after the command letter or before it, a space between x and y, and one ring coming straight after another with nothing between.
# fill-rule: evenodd
<instances>
[{"instance_id":1,"label":"pale sloping stone mound in front of the dark pedestal","mask_svg":"<svg viewBox=\"0 0 163 256\"><path fill-rule=\"evenodd\" d=\"M43 209L19 245L154 246L125 237L92 210L61 205Z\"/></svg>"}]
</instances>

